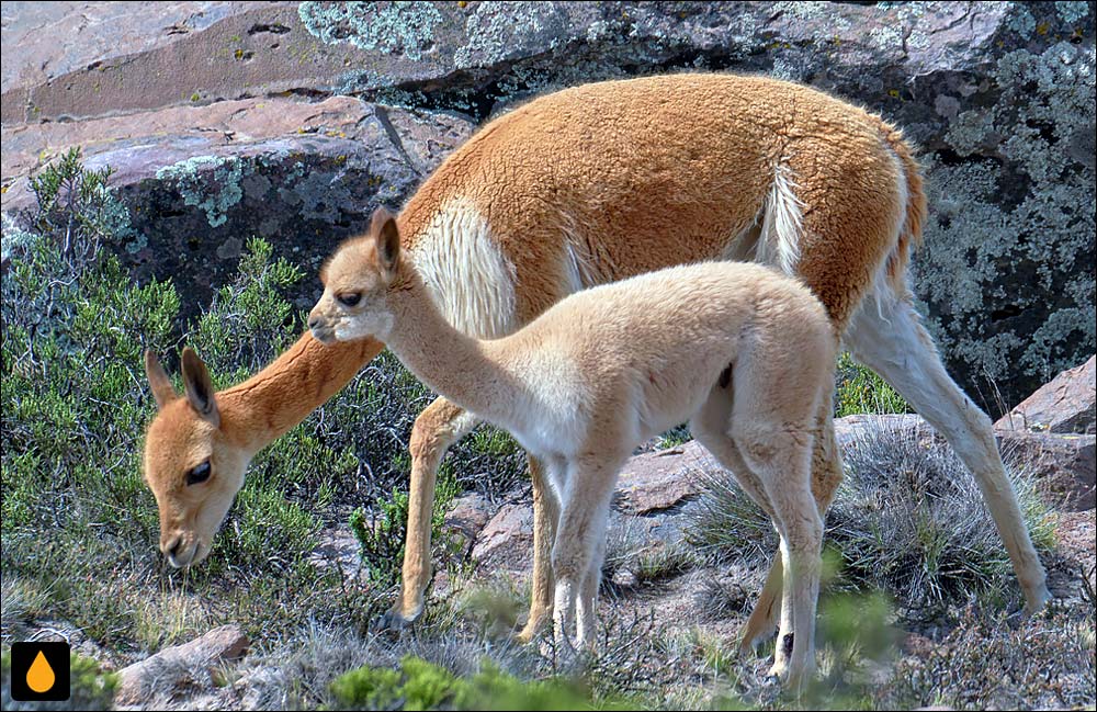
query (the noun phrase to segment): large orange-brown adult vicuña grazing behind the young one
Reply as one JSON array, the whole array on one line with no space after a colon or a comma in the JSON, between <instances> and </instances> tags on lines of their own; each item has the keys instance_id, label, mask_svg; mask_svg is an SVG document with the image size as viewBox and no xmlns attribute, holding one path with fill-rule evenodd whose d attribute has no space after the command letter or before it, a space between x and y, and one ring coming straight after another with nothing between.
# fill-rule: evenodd
<instances>
[{"instance_id":1,"label":"large orange-brown adult vicu\u00f1a grazing behind the young one","mask_svg":"<svg viewBox=\"0 0 1097 712\"><path fill-rule=\"evenodd\" d=\"M483 338L512 332L580 289L670 264L751 259L798 274L853 355L895 386L975 474L1033 611L1049 597L1044 572L991 421L946 373L906 285L925 214L911 150L879 116L773 79L686 74L577 87L491 121L423 182L397 222L442 314ZM373 339L324 348L305 334L256 376L216 394L217 426L202 411L203 398L191 407L194 398L176 402L161 385L158 402L174 405L149 426L145 475L169 561L201 561L250 457L382 348ZM192 362L188 383L200 366ZM155 359L148 372L154 389L167 382ZM821 511L841 479L829 418L821 406L812 461ZM416 421L404 583L392 621L422 610L436 472L474 425L442 398ZM188 473L206 462L219 482L188 486ZM553 590L544 556L552 504L532 459L530 472L527 637L551 610ZM745 644L773 628L780 570L776 561Z\"/></svg>"}]
</instances>

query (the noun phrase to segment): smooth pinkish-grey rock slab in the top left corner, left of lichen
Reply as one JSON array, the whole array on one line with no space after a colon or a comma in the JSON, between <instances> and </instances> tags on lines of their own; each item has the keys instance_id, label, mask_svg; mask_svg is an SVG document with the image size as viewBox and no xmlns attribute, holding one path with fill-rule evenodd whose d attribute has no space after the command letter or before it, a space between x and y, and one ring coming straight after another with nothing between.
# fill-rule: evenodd
<instances>
[{"instance_id":1,"label":"smooth pinkish-grey rock slab in the top left corner, left of lichen","mask_svg":"<svg viewBox=\"0 0 1097 712\"><path fill-rule=\"evenodd\" d=\"M3 44L19 49L4 63L4 124L330 95L348 68L370 60L310 35L292 2L166 2L140 12L102 2L10 4Z\"/></svg>"}]
</instances>

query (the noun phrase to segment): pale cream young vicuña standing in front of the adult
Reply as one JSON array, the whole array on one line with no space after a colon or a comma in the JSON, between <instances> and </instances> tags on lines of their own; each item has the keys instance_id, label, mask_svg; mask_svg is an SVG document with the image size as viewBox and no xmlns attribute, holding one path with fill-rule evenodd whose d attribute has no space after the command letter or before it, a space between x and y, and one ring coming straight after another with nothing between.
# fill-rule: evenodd
<instances>
[{"instance_id":1,"label":"pale cream young vicu\u00f1a standing in front of the adult","mask_svg":"<svg viewBox=\"0 0 1097 712\"><path fill-rule=\"evenodd\" d=\"M691 419L781 538L795 637L788 668L779 657L773 673L794 686L810 673L823 540L812 432L819 404L830 403L837 337L807 287L758 264L674 267L573 294L510 336L478 340L439 313L384 210L320 279L308 315L317 340L381 339L420 381L509 430L545 465L557 641L569 643L577 623L577 643L593 642L621 466Z\"/></svg>"}]
</instances>

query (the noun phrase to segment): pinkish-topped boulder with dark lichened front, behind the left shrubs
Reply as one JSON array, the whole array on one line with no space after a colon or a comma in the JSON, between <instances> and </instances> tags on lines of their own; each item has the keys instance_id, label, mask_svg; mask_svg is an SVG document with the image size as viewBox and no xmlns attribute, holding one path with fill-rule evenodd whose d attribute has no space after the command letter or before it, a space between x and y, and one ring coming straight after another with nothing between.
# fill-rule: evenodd
<instances>
[{"instance_id":1,"label":"pinkish-topped boulder with dark lichened front, behind the left shrubs","mask_svg":"<svg viewBox=\"0 0 1097 712\"><path fill-rule=\"evenodd\" d=\"M184 313L235 274L263 237L315 273L381 205L398 206L472 132L460 117L350 97L225 101L127 116L3 128L5 213L35 205L27 176L71 146L88 169L111 167L129 207L115 251L139 280L171 278ZM293 294L310 306L318 282Z\"/></svg>"}]
</instances>

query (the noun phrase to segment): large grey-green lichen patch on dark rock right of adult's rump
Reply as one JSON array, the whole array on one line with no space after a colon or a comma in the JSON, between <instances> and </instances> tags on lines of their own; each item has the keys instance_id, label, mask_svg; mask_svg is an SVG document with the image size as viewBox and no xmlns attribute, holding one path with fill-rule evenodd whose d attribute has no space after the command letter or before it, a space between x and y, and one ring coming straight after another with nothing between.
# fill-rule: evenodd
<instances>
[{"instance_id":1,"label":"large grey-green lichen patch on dark rock right of adult's rump","mask_svg":"<svg viewBox=\"0 0 1097 712\"><path fill-rule=\"evenodd\" d=\"M952 158L927 161L915 282L973 374L1045 380L1094 351L1095 174L1076 148L1095 133L1094 67L1093 45L1005 54L997 95L945 134Z\"/></svg>"}]
</instances>

